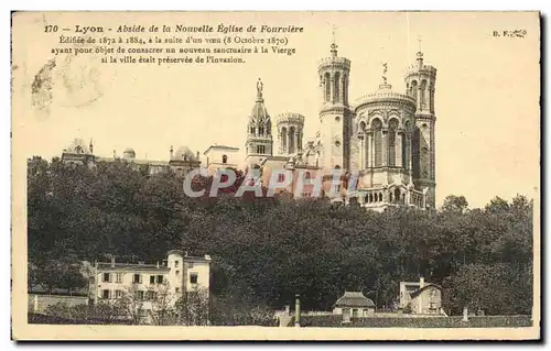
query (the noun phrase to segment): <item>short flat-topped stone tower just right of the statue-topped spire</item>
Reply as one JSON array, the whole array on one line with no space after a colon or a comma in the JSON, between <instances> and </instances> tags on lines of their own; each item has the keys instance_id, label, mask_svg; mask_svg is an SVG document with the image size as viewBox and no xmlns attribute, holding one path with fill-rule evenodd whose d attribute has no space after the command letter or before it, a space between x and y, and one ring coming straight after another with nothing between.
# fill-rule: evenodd
<instances>
[{"instance_id":1,"label":"short flat-topped stone tower just right of the statue-topped spire","mask_svg":"<svg viewBox=\"0 0 551 351\"><path fill-rule=\"evenodd\" d=\"M277 117L278 153L280 155L302 155L304 116L285 112Z\"/></svg>"}]
</instances>

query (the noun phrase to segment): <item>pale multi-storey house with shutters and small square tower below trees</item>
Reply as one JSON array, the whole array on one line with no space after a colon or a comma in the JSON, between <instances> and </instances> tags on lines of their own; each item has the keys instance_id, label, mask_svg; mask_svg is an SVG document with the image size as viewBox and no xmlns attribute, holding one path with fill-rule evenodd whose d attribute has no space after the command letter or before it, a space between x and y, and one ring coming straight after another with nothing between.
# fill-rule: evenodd
<instances>
[{"instance_id":1,"label":"pale multi-storey house with shutters and small square tower below trees","mask_svg":"<svg viewBox=\"0 0 551 351\"><path fill-rule=\"evenodd\" d=\"M209 292L210 256L191 256L181 250L171 250L163 262L122 263L111 256L110 262L96 262L90 275L91 304L115 303L129 296L140 301L147 322L153 300L160 292L174 304L183 294ZM166 294L168 293L168 294Z\"/></svg>"}]
</instances>

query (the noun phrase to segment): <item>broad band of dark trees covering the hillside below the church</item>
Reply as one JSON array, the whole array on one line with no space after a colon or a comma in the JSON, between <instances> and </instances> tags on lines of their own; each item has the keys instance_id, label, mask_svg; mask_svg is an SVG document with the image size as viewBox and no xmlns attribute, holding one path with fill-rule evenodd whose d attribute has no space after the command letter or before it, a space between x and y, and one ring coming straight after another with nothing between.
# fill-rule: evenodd
<instances>
[{"instance_id":1,"label":"broad band of dark trees covering the hillside below the church","mask_svg":"<svg viewBox=\"0 0 551 351\"><path fill-rule=\"evenodd\" d=\"M357 289L389 308L399 282L423 274L443 285L449 312L531 311L532 202L523 196L483 209L449 196L437 211L379 213L324 199L236 198L242 174L217 198L190 198L174 175L150 177L125 162L89 169L33 157L28 176L35 265L106 254L155 262L182 249L212 255L212 293L234 301L282 308L301 294L305 309L328 309Z\"/></svg>"}]
</instances>

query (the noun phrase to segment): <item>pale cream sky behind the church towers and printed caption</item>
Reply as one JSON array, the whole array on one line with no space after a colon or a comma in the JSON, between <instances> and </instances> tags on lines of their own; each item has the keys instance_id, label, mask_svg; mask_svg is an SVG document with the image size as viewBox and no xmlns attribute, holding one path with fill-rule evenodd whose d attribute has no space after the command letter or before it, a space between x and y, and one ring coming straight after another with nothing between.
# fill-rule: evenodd
<instances>
[{"instance_id":1,"label":"pale cream sky behind the church towers and printed caption","mask_svg":"<svg viewBox=\"0 0 551 351\"><path fill-rule=\"evenodd\" d=\"M215 143L242 150L259 77L272 119L287 111L304 114L305 138L314 136L321 102L317 62L329 55L335 26L338 55L352 61L352 103L377 90L382 62L388 63L388 83L399 92L406 90L403 75L420 46L425 64L436 67L436 206L452 194L465 196L471 207L484 207L495 196L538 196L537 13L50 13L14 18L13 23L12 132L20 141L14 158L21 162L32 155L60 156L75 138L93 139L100 156L132 147L138 158L168 160L171 145L203 153ZM35 75L54 57L51 48L61 46L55 35L44 33L50 23L292 24L304 32L288 36L294 55L252 55L242 65L106 65L101 55L60 55L44 110L32 105L31 90ZM493 36L504 30L526 30L527 36ZM193 47L202 46L207 45Z\"/></svg>"}]
</instances>

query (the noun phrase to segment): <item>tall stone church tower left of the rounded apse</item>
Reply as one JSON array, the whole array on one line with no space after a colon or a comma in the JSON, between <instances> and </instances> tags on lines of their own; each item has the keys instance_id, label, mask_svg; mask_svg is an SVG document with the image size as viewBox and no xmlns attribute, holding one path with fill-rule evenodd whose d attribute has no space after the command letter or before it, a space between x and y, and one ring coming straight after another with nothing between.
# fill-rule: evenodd
<instances>
[{"instance_id":1,"label":"tall stone church tower left of the rounded apse","mask_svg":"<svg viewBox=\"0 0 551 351\"><path fill-rule=\"evenodd\" d=\"M331 45L331 56L317 66L322 92L320 133L321 166L325 169L350 168L352 110L348 105L350 61L337 56L337 45Z\"/></svg>"}]
</instances>

